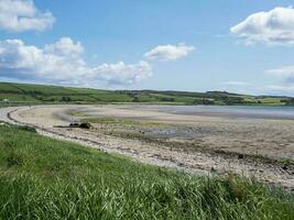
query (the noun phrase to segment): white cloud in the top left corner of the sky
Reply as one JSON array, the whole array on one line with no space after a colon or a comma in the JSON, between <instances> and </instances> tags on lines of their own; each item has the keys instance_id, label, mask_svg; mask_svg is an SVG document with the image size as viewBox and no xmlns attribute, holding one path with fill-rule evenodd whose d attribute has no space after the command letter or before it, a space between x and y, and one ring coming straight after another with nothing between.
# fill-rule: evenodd
<instances>
[{"instance_id":1,"label":"white cloud in the top left corner of the sky","mask_svg":"<svg viewBox=\"0 0 294 220\"><path fill-rule=\"evenodd\" d=\"M41 12L32 0L0 0L0 30L44 31L54 22L52 13Z\"/></svg>"}]
</instances>

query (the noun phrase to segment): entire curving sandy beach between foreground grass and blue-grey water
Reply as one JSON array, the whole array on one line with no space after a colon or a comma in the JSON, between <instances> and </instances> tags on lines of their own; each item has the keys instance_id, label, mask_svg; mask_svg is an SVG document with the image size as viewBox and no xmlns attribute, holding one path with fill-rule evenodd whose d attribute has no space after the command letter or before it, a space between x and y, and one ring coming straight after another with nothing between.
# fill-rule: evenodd
<instances>
[{"instance_id":1,"label":"entire curving sandy beach between foreground grass and blue-grey water","mask_svg":"<svg viewBox=\"0 0 294 220\"><path fill-rule=\"evenodd\" d=\"M97 123L91 130L54 128L80 119L70 112L90 118L138 120L142 124ZM294 121L291 120L173 114L144 106L40 106L20 108L11 117L37 127L43 134L124 154L141 162L193 173L232 172L294 188L293 165L254 160L294 160ZM146 125L146 122L160 125Z\"/></svg>"}]
</instances>

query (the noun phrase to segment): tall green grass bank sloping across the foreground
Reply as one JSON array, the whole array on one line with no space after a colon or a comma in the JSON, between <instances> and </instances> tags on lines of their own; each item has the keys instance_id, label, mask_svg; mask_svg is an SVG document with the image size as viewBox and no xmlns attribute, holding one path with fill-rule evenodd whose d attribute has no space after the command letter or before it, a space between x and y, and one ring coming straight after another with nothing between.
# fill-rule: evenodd
<instances>
[{"instance_id":1,"label":"tall green grass bank sloping across the foreground","mask_svg":"<svg viewBox=\"0 0 294 220\"><path fill-rule=\"evenodd\" d=\"M294 195L0 125L0 219L293 219Z\"/></svg>"}]
</instances>

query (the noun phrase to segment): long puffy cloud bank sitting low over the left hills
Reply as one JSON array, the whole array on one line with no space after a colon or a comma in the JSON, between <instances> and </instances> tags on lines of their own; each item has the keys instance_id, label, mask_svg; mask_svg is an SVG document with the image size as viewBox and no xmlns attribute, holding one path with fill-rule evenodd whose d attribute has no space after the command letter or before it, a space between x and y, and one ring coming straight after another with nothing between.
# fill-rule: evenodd
<instances>
[{"instance_id":1,"label":"long puffy cloud bank sitting low over the left hills","mask_svg":"<svg viewBox=\"0 0 294 220\"><path fill-rule=\"evenodd\" d=\"M63 37L43 48L21 40L0 41L0 77L42 80L54 84L133 84L151 76L146 62L89 66L83 59L79 42Z\"/></svg>"}]
</instances>

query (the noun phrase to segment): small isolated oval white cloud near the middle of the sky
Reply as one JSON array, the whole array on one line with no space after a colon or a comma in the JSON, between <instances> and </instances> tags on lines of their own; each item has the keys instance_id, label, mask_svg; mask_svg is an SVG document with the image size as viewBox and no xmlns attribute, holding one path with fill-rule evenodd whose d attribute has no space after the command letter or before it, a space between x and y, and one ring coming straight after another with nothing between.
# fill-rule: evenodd
<instances>
[{"instance_id":1,"label":"small isolated oval white cloud near the middle of the sky","mask_svg":"<svg viewBox=\"0 0 294 220\"><path fill-rule=\"evenodd\" d=\"M178 45L160 45L150 52L144 54L148 59L159 59L159 61L175 61L187 56L194 51L194 46L186 46L185 44Z\"/></svg>"}]
</instances>

